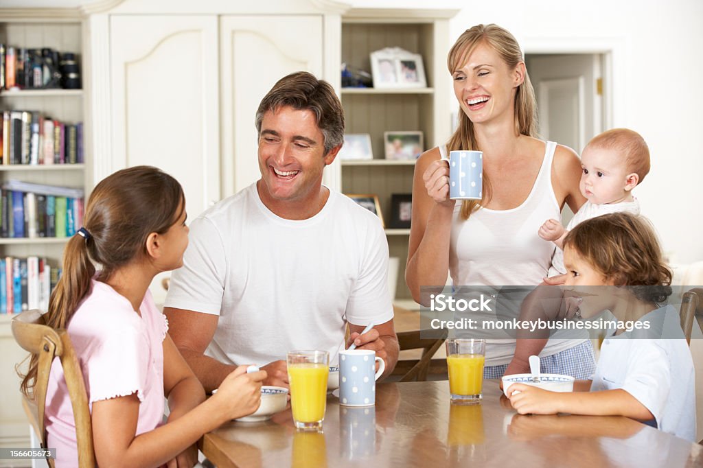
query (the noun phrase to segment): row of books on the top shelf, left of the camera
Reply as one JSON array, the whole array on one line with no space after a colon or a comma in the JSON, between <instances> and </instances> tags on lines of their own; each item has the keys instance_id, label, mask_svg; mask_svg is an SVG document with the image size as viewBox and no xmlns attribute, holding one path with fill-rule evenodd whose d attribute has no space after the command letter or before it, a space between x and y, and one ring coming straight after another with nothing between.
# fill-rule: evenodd
<instances>
[{"instance_id":1,"label":"row of books on the top shelf, left of the camera","mask_svg":"<svg viewBox=\"0 0 703 468\"><path fill-rule=\"evenodd\" d=\"M0 44L0 89L58 88L60 54L53 48Z\"/></svg>"}]
</instances>

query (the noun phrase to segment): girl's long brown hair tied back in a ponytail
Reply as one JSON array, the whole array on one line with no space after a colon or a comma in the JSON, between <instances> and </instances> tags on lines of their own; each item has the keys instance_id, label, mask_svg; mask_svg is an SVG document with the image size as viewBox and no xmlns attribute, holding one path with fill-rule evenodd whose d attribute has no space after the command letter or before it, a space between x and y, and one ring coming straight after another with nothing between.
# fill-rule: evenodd
<instances>
[{"instance_id":1,"label":"girl's long brown hair tied back in a ponytail","mask_svg":"<svg viewBox=\"0 0 703 468\"><path fill-rule=\"evenodd\" d=\"M137 208L138 207L138 208ZM183 188L175 178L150 166L136 166L111 174L98 183L86 204L83 227L87 238L74 235L63 252L63 273L44 314L46 325L65 328L96 279L105 281L118 268L146 255L150 233L164 234L183 214ZM37 377L38 356L20 389L29 396Z\"/></svg>"}]
</instances>

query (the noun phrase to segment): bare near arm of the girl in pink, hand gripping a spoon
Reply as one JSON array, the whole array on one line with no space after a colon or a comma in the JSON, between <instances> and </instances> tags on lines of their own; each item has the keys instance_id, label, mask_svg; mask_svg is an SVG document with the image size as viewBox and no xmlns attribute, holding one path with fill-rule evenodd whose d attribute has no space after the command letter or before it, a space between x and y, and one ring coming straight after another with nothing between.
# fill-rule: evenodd
<instances>
[{"instance_id":1,"label":"bare near arm of the girl in pink, hand gripping a spoon","mask_svg":"<svg viewBox=\"0 0 703 468\"><path fill-rule=\"evenodd\" d=\"M246 374L240 366L224 379L217 394L153 431L138 436L139 401L136 393L93 403L93 445L98 465L155 467L193 445L206 432L236 417L249 415L261 402L266 372Z\"/></svg>"}]
</instances>

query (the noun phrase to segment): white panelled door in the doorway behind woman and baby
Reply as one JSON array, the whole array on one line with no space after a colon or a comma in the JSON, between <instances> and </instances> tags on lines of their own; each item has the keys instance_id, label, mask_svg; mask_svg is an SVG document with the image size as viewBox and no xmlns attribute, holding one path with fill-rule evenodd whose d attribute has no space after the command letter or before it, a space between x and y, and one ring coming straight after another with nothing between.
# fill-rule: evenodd
<instances>
[{"instance_id":1,"label":"white panelled door in the doorway behind woman and baby","mask_svg":"<svg viewBox=\"0 0 703 468\"><path fill-rule=\"evenodd\" d=\"M581 154L602 131L600 54L541 54L526 57L537 98L541 137Z\"/></svg>"}]
</instances>

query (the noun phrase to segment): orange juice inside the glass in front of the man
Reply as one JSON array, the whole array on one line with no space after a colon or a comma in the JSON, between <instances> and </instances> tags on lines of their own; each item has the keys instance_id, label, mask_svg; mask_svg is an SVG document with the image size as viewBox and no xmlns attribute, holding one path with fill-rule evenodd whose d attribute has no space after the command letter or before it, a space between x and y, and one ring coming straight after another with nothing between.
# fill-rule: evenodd
<instances>
[{"instance_id":1,"label":"orange juice inside the glass in front of the man","mask_svg":"<svg viewBox=\"0 0 703 468\"><path fill-rule=\"evenodd\" d=\"M290 405L294 420L317 422L325 418L329 373L327 364L288 364Z\"/></svg>"}]
</instances>

